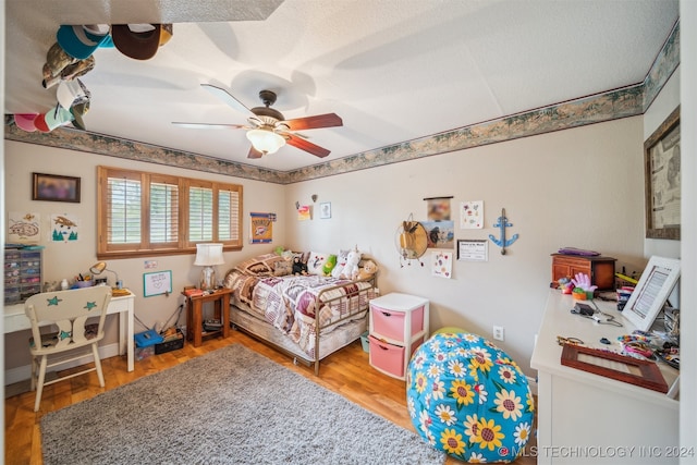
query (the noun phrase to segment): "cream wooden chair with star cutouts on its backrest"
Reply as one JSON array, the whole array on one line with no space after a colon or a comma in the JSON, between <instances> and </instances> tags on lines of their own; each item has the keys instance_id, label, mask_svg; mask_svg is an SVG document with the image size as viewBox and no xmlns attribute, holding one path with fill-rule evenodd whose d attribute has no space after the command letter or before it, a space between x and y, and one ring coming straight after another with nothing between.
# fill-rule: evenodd
<instances>
[{"instance_id":1,"label":"cream wooden chair with star cutouts on its backrest","mask_svg":"<svg viewBox=\"0 0 697 465\"><path fill-rule=\"evenodd\" d=\"M68 378L97 371L99 386L103 388L105 377L97 345L105 336L107 307L111 301L111 287L98 285L71 291L44 292L27 298L24 311L32 321L32 391L36 389L34 412L38 412L44 387ZM98 318L95 325L86 326L88 318ZM40 326L54 325L57 332L41 334ZM95 366L46 382L46 369L89 355L81 347L91 347ZM68 352L70 354L66 354ZM49 357L51 360L49 363Z\"/></svg>"}]
</instances>

